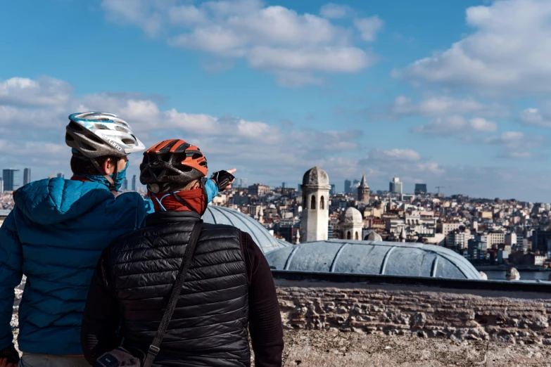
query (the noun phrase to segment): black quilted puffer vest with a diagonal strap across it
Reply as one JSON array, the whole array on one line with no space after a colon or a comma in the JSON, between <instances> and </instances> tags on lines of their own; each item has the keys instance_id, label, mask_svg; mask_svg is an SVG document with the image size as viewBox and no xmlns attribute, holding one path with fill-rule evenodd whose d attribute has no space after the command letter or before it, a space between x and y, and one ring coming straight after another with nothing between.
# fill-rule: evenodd
<instances>
[{"instance_id":1,"label":"black quilted puffer vest with a diagonal strap across it","mask_svg":"<svg viewBox=\"0 0 551 367\"><path fill-rule=\"evenodd\" d=\"M179 212L152 214L145 228L118 238L110 247L123 345L142 351L151 345L196 221L182 220ZM248 366L247 324L241 233L232 226L203 224L156 364Z\"/></svg>"}]
</instances>

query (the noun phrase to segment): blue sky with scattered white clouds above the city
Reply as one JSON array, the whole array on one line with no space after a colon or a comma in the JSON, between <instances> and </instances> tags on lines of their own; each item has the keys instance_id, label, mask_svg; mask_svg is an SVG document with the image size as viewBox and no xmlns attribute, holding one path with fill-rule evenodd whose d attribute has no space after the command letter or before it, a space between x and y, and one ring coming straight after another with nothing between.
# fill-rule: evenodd
<instances>
[{"instance_id":1,"label":"blue sky with scattered white clouds above the city","mask_svg":"<svg viewBox=\"0 0 551 367\"><path fill-rule=\"evenodd\" d=\"M547 0L4 1L0 168L69 176L67 117L101 110L248 184L551 202L550 55Z\"/></svg>"}]
</instances>

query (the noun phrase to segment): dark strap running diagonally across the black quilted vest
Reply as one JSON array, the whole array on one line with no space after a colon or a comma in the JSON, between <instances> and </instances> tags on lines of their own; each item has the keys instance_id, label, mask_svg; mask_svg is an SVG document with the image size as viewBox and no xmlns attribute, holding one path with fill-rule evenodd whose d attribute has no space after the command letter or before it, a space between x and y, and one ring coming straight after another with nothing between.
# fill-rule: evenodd
<instances>
[{"instance_id":1,"label":"dark strap running diagonally across the black quilted vest","mask_svg":"<svg viewBox=\"0 0 551 367\"><path fill-rule=\"evenodd\" d=\"M184 278L186 278L186 273L189 269L189 264L191 264L191 259L193 259L194 257L195 246L197 245L197 241L199 239L199 235L201 234L202 229L203 221L200 220L195 224L194 229L191 231L191 234L189 236L189 243L187 244L186 252L184 253L184 259L182 260L182 265L180 266L178 276L176 277L176 283L172 288L172 293L170 293L170 300L168 301L167 308L165 309L165 314L163 314L163 320L160 321L160 325L155 335L155 338L149 346L146 361L144 361L144 367L151 367L153 361L155 360L155 357L159 353L160 343L163 342L163 337L165 337L168 323L170 323L172 314L174 314L174 309L176 308L178 297L180 295L180 292L182 292L182 285L184 285Z\"/></svg>"}]
</instances>

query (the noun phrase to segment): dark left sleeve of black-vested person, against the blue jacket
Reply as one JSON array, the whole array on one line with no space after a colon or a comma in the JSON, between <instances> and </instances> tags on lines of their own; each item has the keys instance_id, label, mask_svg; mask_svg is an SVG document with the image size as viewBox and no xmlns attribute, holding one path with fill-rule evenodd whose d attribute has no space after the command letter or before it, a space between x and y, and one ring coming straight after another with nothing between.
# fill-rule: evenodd
<instances>
[{"instance_id":1,"label":"dark left sleeve of black-vested person, against the blue jacket","mask_svg":"<svg viewBox=\"0 0 551 367\"><path fill-rule=\"evenodd\" d=\"M94 271L80 330L82 351L92 366L101 354L118 347L119 304L110 277L107 254L108 250L103 250Z\"/></svg>"}]
</instances>

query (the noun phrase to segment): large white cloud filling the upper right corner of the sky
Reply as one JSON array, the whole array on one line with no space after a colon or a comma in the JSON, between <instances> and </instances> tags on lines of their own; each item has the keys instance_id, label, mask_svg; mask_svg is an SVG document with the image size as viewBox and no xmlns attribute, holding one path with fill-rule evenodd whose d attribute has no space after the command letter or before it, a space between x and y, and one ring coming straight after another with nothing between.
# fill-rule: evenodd
<instances>
[{"instance_id":1,"label":"large white cloud filling the upper right corner of the sky","mask_svg":"<svg viewBox=\"0 0 551 367\"><path fill-rule=\"evenodd\" d=\"M501 0L467 8L476 31L395 77L467 86L488 94L551 91L551 1Z\"/></svg>"}]
</instances>

